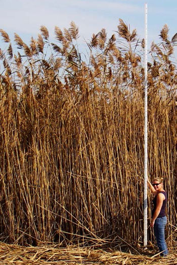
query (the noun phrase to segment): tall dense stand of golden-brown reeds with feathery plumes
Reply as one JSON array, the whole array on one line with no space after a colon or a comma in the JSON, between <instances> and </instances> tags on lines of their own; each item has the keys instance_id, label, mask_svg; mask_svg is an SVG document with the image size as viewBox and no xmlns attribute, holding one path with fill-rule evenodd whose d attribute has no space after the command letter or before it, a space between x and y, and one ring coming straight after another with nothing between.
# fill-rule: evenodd
<instances>
[{"instance_id":1,"label":"tall dense stand of golden-brown reeds with feathery plumes","mask_svg":"<svg viewBox=\"0 0 177 265\"><path fill-rule=\"evenodd\" d=\"M143 241L144 40L119 20L93 34L83 61L78 28L45 26L18 52L0 50L0 239L101 244ZM160 32L148 63L148 172L164 176L167 243L176 228L177 34ZM148 216L151 197L148 198ZM149 240L153 233L148 229Z\"/></svg>"}]
</instances>

